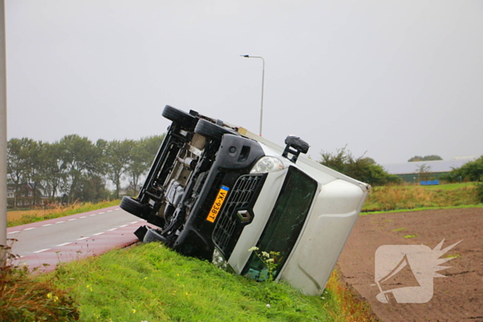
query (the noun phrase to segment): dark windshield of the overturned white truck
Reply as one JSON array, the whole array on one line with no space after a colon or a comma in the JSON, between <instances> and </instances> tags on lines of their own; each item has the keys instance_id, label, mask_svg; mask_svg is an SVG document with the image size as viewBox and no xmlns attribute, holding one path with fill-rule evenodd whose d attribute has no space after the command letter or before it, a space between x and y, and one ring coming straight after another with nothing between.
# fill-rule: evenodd
<instances>
[{"instance_id":1,"label":"dark windshield of the overturned white truck","mask_svg":"<svg viewBox=\"0 0 483 322\"><path fill-rule=\"evenodd\" d=\"M295 167L288 169L275 207L257 243L260 255L262 251L280 253L274 262L277 267L271 272L273 279L284 266L299 237L316 191L317 181ZM269 276L267 266L255 253L250 255L242 274L259 281Z\"/></svg>"}]
</instances>

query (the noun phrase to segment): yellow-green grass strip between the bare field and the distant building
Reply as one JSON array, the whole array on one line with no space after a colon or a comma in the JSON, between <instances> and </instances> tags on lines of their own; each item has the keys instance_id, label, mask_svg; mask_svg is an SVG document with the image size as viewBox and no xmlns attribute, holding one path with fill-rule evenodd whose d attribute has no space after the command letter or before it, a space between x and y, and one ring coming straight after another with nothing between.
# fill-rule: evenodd
<instances>
[{"instance_id":1,"label":"yellow-green grass strip between the bare field and the distant building","mask_svg":"<svg viewBox=\"0 0 483 322\"><path fill-rule=\"evenodd\" d=\"M371 190L362 211L422 210L478 204L481 203L473 183L386 185Z\"/></svg>"}]
</instances>

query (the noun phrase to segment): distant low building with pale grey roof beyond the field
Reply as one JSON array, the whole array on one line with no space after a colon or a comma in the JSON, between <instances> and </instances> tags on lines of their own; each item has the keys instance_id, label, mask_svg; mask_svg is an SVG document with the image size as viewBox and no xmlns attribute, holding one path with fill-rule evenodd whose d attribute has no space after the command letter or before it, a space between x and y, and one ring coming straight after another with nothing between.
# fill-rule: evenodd
<instances>
[{"instance_id":1,"label":"distant low building with pale grey roof beyond the field","mask_svg":"<svg viewBox=\"0 0 483 322\"><path fill-rule=\"evenodd\" d=\"M453 169L461 168L462 165L469 161L475 161L476 157L455 158L453 160L436 160L436 161L415 161L404 163L393 163L382 165L390 174L395 174L402 180L415 183L426 180L438 180L441 174L450 172ZM426 166L424 178L420 174L422 166Z\"/></svg>"}]
</instances>

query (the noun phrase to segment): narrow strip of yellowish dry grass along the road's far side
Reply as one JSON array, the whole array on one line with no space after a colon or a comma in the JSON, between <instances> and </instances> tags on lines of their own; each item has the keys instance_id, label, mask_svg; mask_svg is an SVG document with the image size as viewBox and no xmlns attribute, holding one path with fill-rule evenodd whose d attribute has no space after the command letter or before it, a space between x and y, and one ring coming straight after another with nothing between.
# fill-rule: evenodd
<instances>
[{"instance_id":1,"label":"narrow strip of yellowish dry grass along the road's far side","mask_svg":"<svg viewBox=\"0 0 483 322\"><path fill-rule=\"evenodd\" d=\"M72 205L57 205L55 207L35 208L32 210L13 210L7 212L8 227L35 223L47 219L80 214L102 208L119 205L120 200L102 201L100 203L73 203Z\"/></svg>"}]
</instances>

